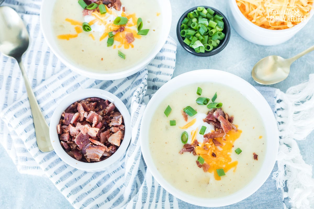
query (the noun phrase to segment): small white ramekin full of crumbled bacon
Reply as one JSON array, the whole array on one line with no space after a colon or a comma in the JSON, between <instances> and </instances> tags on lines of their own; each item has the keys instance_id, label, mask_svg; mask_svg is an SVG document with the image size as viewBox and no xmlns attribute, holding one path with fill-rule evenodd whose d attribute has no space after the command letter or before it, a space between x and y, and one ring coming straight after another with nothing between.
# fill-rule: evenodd
<instances>
[{"instance_id":1,"label":"small white ramekin full of crumbled bacon","mask_svg":"<svg viewBox=\"0 0 314 209\"><path fill-rule=\"evenodd\" d=\"M80 170L102 170L122 159L131 140L131 117L124 103L101 89L65 97L49 128L56 154Z\"/></svg>"}]
</instances>

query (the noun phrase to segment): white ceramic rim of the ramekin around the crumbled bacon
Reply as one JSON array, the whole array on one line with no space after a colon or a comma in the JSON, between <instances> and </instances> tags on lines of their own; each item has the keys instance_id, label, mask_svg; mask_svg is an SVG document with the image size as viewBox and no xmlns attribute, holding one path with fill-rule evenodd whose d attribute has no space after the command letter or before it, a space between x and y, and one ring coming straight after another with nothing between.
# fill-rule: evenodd
<instances>
[{"instance_id":1,"label":"white ceramic rim of the ramekin around the crumbled bacon","mask_svg":"<svg viewBox=\"0 0 314 209\"><path fill-rule=\"evenodd\" d=\"M68 155L62 148L57 134L57 124L59 124L62 112L65 111L74 102L89 97L99 97L104 100L108 99L110 102L112 102L121 113L125 125L124 138L117 151L114 154L112 154L109 158L95 163L81 162ZM111 94L110 92L94 88L74 91L73 93L69 94L64 99L62 99L62 101L59 102L57 108L52 114L49 127L51 144L56 154L68 165L86 171L101 170L107 166L110 166L119 158L121 158L121 156L123 156L125 151L127 150L128 145L130 144L131 131L132 131L131 117L124 103L118 97Z\"/></svg>"}]
</instances>

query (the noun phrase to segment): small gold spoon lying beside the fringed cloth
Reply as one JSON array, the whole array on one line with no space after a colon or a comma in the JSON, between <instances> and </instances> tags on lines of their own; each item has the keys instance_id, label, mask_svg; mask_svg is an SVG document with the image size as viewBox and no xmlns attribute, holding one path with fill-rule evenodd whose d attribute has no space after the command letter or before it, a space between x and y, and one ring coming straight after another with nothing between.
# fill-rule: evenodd
<instances>
[{"instance_id":1,"label":"small gold spoon lying beside the fringed cloth","mask_svg":"<svg viewBox=\"0 0 314 209\"><path fill-rule=\"evenodd\" d=\"M301 56L314 50L311 46L290 59L284 59L281 56L271 55L259 60L252 69L252 78L259 84L271 85L279 83L286 79L290 73L290 65Z\"/></svg>"}]
</instances>

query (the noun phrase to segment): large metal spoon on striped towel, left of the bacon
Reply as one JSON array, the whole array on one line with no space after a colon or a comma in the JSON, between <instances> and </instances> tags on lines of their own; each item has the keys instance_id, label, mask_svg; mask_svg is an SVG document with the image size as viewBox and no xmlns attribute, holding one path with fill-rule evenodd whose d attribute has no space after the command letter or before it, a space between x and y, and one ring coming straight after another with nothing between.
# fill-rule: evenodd
<instances>
[{"instance_id":1,"label":"large metal spoon on striped towel, left of the bacon","mask_svg":"<svg viewBox=\"0 0 314 209\"><path fill-rule=\"evenodd\" d=\"M0 28L0 52L16 59L19 63L30 101L38 148L42 152L49 152L53 150L49 138L49 126L41 113L22 63L22 55L29 45L28 32L18 13L10 7L0 7Z\"/></svg>"}]
</instances>

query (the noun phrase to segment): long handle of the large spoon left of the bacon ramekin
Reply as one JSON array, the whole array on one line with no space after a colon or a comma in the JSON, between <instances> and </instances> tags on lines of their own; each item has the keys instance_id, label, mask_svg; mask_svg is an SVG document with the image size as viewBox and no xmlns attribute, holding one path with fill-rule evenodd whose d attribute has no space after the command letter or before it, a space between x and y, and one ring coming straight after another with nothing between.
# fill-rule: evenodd
<instances>
[{"instance_id":1,"label":"long handle of the large spoon left of the bacon ramekin","mask_svg":"<svg viewBox=\"0 0 314 209\"><path fill-rule=\"evenodd\" d=\"M30 101L30 109L32 111L33 120L34 120L34 126L35 126L35 133L36 133L36 141L38 148L42 152L49 152L53 150L50 138L49 138L49 126L46 123L46 120L44 116L41 113L41 109L37 103L36 97L34 95L34 92L32 90L32 87L30 86L30 82L28 80L28 77L26 75L24 65L22 63L22 58L17 59L19 63L19 67L22 72L22 76L24 79L24 83L26 86L26 91L28 95L28 99Z\"/></svg>"}]
</instances>

